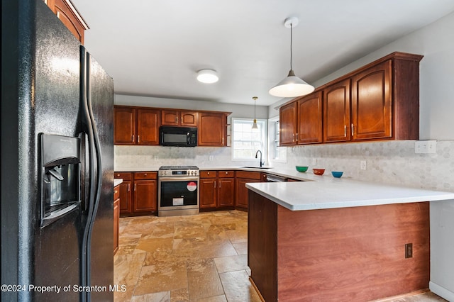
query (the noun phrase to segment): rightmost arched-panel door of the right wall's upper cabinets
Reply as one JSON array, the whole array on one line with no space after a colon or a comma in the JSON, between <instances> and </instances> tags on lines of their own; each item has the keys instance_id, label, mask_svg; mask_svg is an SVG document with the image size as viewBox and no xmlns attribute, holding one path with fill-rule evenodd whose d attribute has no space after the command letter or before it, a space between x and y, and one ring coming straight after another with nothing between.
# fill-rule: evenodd
<instances>
[{"instance_id":1,"label":"rightmost arched-panel door of the right wall's upper cabinets","mask_svg":"<svg viewBox=\"0 0 454 302\"><path fill-rule=\"evenodd\" d=\"M353 76L353 140L391 138L391 68L389 60Z\"/></svg>"}]
</instances>

